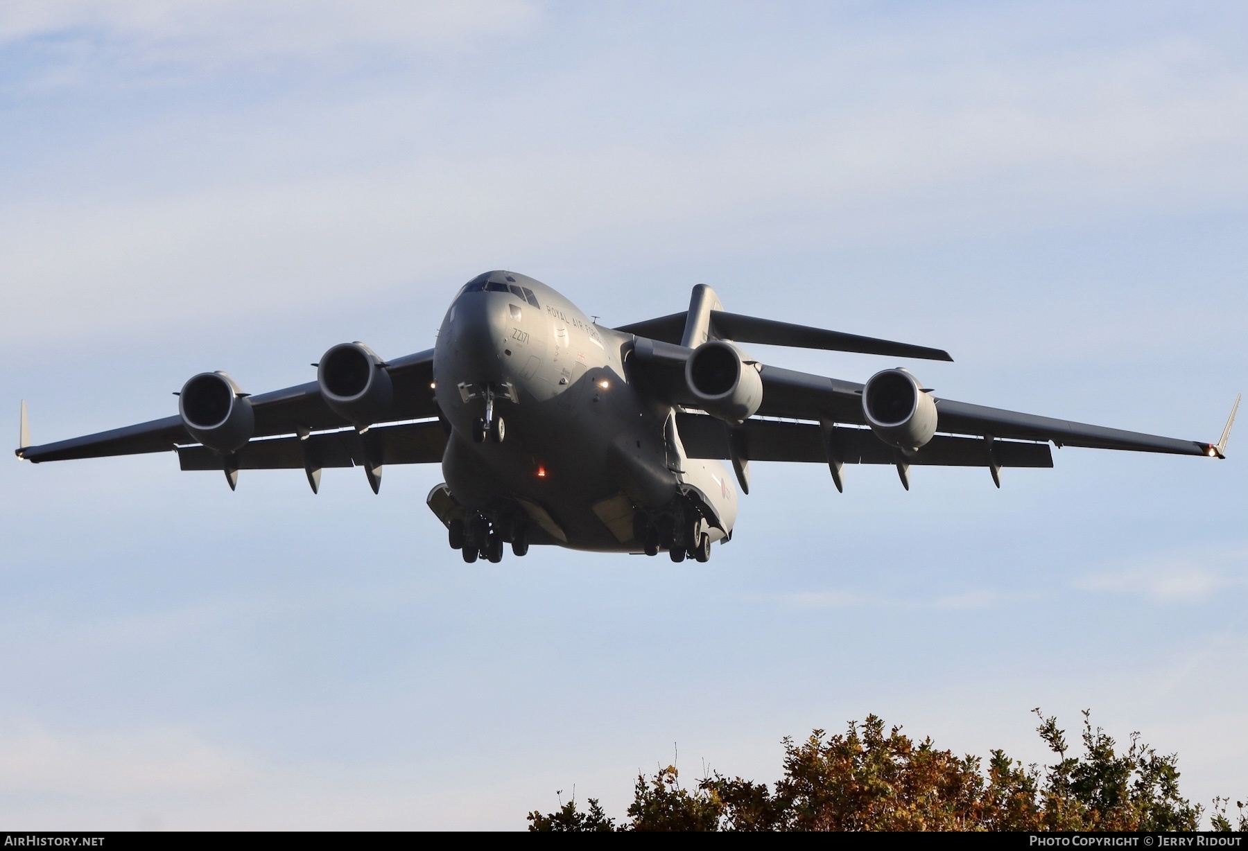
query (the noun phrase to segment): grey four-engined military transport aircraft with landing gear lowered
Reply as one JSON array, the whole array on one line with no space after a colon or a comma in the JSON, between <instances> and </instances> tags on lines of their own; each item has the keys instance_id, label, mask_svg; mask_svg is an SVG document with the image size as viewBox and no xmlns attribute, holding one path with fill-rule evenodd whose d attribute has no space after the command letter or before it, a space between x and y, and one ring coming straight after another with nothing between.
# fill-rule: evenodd
<instances>
[{"instance_id":1,"label":"grey four-engined military transport aircraft with landing gear lowered","mask_svg":"<svg viewBox=\"0 0 1248 851\"><path fill-rule=\"evenodd\" d=\"M183 470L363 467L376 493L386 464L442 463L428 505L466 562L504 544L666 550L705 562L729 542L750 462L910 469L1052 467L1050 444L1224 457L1179 440L937 398L905 368L865 384L766 366L741 343L952 361L940 349L728 313L694 287L689 309L620 328L590 321L550 287L495 271L464 284L434 348L386 361L341 343L306 384L251 396L223 372L193 376L176 416L27 445L34 463L176 452ZM733 473L721 464L729 462Z\"/></svg>"}]
</instances>

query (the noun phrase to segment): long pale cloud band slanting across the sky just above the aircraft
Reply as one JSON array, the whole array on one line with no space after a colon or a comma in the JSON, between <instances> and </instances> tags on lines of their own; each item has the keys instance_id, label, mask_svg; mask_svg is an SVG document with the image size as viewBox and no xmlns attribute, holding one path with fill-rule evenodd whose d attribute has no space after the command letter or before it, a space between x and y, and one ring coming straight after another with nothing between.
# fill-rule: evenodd
<instances>
[{"instance_id":1,"label":"long pale cloud band slanting across the sky just above the aircraft","mask_svg":"<svg viewBox=\"0 0 1248 851\"><path fill-rule=\"evenodd\" d=\"M7 313L0 338L225 316L240 303L266 311L412 278L449 287L495 258L861 243L992 227L1020 206L1036 221L1158 193L1222 196L1239 191L1243 168L1214 173L1201 160L1229 141L1248 145L1248 125L1228 117L1246 111L1248 99L1228 91L1094 117L897 112L759 130L696 153L427 150L382 168L149 198L14 202L0 207L0 267L7 286L55 308Z\"/></svg>"}]
</instances>

